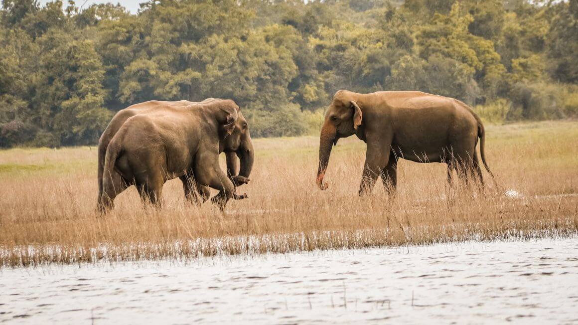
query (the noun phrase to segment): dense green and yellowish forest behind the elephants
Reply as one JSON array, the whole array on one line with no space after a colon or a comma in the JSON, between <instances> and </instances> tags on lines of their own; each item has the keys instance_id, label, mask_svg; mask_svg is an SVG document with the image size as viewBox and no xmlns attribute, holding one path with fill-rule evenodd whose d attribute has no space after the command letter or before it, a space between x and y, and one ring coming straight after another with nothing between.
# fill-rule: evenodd
<instances>
[{"instance_id":1,"label":"dense green and yellowish forest behind the elephants","mask_svg":"<svg viewBox=\"0 0 578 325\"><path fill-rule=\"evenodd\" d=\"M318 131L336 90L421 90L486 120L578 116L578 0L3 0L0 146L93 145L149 99L234 99Z\"/></svg>"}]
</instances>

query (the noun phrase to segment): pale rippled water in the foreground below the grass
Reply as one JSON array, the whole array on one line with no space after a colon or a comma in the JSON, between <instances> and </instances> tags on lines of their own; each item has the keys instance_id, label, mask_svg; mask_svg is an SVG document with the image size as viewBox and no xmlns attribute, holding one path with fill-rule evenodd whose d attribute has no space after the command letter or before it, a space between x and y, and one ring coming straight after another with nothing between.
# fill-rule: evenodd
<instances>
[{"instance_id":1,"label":"pale rippled water in the foreground below the grass","mask_svg":"<svg viewBox=\"0 0 578 325\"><path fill-rule=\"evenodd\" d=\"M8 323L576 323L578 239L0 271Z\"/></svg>"}]
</instances>

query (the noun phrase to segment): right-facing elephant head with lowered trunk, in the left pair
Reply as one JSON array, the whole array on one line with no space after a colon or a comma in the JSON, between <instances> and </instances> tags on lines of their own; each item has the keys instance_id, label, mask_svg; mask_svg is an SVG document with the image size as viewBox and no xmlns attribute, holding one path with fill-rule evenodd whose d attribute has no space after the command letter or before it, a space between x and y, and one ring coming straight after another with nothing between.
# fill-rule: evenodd
<instances>
[{"instance_id":1,"label":"right-facing elephant head with lowered trunk, in the left pair","mask_svg":"<svg viewBox=\"0 0 578 325\"><path fill-rule=\"evenodd\" d=\"M233 101L225 100L223 104L229 105ZM224 152L227 156L227 173L236 186L248 183L251 169L253 169L254 150L253 141L249 132L249 124L241 113L239 106L234 104L236 115L234 120L228 120L227 124L222 125L220 130L221 139L219 143L219 152ZM240 170L237 174L237 157L240 160Z\"/></svg>"}]
</instances>

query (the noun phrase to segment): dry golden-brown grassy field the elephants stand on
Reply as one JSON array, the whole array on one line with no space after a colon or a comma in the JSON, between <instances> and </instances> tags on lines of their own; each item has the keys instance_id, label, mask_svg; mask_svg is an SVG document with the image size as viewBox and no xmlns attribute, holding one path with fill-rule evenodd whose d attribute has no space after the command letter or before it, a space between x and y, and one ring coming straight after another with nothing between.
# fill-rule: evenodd
<instances>
[{"instance_id":1,"label":"dry golden-brown grassy field the elephants stand on","mask_svg":"<svg viewBox=\"0 0 578 325\"><path fill-rule=\"evenodd\" d=\"M97 150L0 151L0 267L81 261L190 258L468 239L536 238L578 230L578 123L487 125L486 195L449 190L446 167L401 161L398 195L357 196L365 144L335 147L317 189L318 139L255 139L249 198L221 215L184 202L178 180L164 208L143 208L133 188L96 213ZM504 195L503 190L512 195ZM514 193L514 191L516 193Z\"/></svg>"}]
</instances>

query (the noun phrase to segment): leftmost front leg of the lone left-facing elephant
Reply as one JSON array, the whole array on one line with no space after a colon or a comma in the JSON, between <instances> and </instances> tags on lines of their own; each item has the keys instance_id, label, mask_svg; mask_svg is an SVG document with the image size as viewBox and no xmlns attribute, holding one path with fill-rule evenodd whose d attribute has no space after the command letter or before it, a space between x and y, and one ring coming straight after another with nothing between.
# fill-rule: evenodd
<instances>
[{"instance_id":1,"label":"leftmost front leg of the lone left-facing elephant","mask_svg":"<svg viewBox=\"0 0 578 325\"><path fill-rule=\"evenodd\" d=\"M371 193L377 178L388 164L390 150L383 150L382 148L384 147L390 147L390 143L387 143L387 146L383 146L379 145L379 143L370 143L368 141L365 164L361 176L360 196Z\"/></svg>"}]
</instances>

